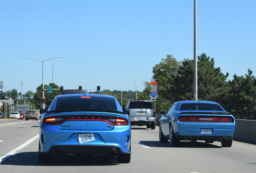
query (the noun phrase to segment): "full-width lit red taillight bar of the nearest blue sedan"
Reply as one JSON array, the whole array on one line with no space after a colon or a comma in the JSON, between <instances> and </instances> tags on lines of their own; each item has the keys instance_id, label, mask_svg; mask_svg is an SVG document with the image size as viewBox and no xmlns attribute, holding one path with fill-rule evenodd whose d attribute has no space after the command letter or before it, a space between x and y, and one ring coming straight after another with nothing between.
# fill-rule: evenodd
<instances>
[{"instance_id":1,"label":"full-width lit red taillight bar of the nearest blue sedan","mask_svg":"<svg viewBox=\"0 0 256 173\"><path fill-rule=\"evenodd\" d=\"M60 125L66 121L105 121L111 125L128 125L128 120L125 118L104 117L104 116L81 116L81 115L46 117L43 119L43 124Z\"/></svg>"}]
</instances>

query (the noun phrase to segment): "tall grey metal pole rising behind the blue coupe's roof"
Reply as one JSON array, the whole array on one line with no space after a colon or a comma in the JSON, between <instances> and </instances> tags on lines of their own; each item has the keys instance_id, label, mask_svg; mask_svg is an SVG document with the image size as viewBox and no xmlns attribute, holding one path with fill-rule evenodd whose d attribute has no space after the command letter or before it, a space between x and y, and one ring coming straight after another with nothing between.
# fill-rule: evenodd
<instances>
[{"instance_id":1,"label":"tall grey metal pole rising behind the blue coupe's roof","mask_svg":"<svg viewBox=\"0 0 256 173\"><path fill-rule=\"evenodd\" d=\"M196 28L196 0L194 0L194 101L197 101L197 28Z\"/></svg>"}]
</instances>

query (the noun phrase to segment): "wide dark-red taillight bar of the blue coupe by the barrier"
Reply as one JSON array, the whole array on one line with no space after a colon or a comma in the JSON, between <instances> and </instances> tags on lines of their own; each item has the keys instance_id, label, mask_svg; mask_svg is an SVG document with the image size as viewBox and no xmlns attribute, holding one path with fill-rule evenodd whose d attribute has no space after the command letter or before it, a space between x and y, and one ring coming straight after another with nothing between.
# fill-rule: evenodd
<instances>
[{"instance_id":1,"label":"wide dark-red taillight bar of the blue coupe by the barrier","mask_svg":"<svg viewBox=\"0 0 256 173\"><path fill-rule=\"evenodd\" d=\"M213 121L213 122L233 122L231 117L195 117L181 116L179 121Z\"/></svg>"}]
</instances>

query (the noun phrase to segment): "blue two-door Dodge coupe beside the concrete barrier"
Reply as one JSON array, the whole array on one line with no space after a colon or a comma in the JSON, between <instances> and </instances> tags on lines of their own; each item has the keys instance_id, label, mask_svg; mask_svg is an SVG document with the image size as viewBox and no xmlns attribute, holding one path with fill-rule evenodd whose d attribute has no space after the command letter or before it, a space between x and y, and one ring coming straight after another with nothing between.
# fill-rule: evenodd
<instances>
[{"instance_id":1,"label":"blue two-door Dodge coupe beside the concrete barrier","mask_svg":"<svg viewBox=\"0 0 256 173\"><path fill-rule=\"evenodd\" d=\"M235 118L218 103L210 101L180 101L173 103L159 120L159 141L178 146L180 141L221 142L231 147Z\"/></svg>"}]
</instances>

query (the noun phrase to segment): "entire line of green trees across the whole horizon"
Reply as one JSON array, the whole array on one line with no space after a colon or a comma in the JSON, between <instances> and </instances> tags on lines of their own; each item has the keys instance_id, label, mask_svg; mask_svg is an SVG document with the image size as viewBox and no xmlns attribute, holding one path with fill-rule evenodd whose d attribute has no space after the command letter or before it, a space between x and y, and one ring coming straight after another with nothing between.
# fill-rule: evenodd
<instances>
[{"instance_id":1,"label":"entire line of green trees across the whole horizon","mask_svg":"<svg viewBox=\"0 0 256 173\"><path fill-rule=\"evenodd\" d=\"M159 111L167 111L171 104L176 101L194 100L194 60L184 59L177 61L172 55L166 55L153 69L152 81L157 82L158 97L153 102L154 107ZM252 75L252 70L248 69L245 76L233 76L233 80L227 80L229 73L223 74L219 67L215 67L214 58L202 53L198 56L198 101L214 101L219 103L227 112L233 114L236 119L256 120L256 78ZM137 91L138 99L150 100L149 92L151 82L144 82L143 92ZM55 83L50 83L54 89L59 88ZM44 89L47 89L45 84ZM98 94L90 92L92 94ZM110 91L103 90L100 94L112 95L122 103L125 108L129 100L136 99L135 91ZM13 97L14 103L33 104L36 109L41 109L42 104L42 84L33 93L28 91L23 97L34 95L34 99L21 99L17 101L16 89L7 92L7 96ZM45 92L45 108L47 109L53 99L60 95L59 90L53 93ZM6 93L0 91L0 99L4 99ZM122 100L122 101L121 101ZM4 112L4 105L1 107Z\"/></svg>"}]
</instances>

